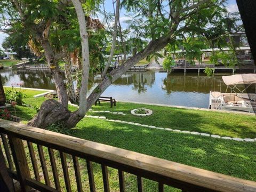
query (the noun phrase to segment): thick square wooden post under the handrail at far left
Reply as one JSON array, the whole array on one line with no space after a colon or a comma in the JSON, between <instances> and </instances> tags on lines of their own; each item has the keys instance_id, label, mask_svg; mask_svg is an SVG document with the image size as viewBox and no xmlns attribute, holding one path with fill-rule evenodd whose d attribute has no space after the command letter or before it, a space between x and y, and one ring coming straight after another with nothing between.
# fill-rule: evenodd
<instances>
[{"instance_id":1,"label":"thick square wooden post under the handrail at far left","mask_svg":"<svg viewBox=\"0 0 256 192\"><path fill-rule=\"evenodd\" d=\"M8 135L10 142L13 161L17 170L18 179L22 191L29 191L30 187L26 185L25 180L30 178L28 162L26 158L25 149L21 139Z\"/></svg>"}]
</instances>

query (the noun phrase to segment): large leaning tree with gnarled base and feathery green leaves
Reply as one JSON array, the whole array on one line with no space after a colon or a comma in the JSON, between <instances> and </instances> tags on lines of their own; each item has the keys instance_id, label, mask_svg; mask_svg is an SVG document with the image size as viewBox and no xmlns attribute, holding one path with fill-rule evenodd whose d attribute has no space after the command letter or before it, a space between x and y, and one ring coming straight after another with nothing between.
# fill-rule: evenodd
<instances>
[{"instance_id":1,"label":"large leaning tree with gnarled base and feathery green leaves","mask_svg":"<svg viewBox=\"0 0 256 192\"><path fill-rule=\"evenodd\" d=\"M59 103L47 101L48 104L47 102L45 106L43 104L42 110L31 121L31 125L45 127L62 121L72 127L83 118L84 113L81 114L79 109L73 113L68 111L70 94L77 93L74 96L78 98L76 101L80 104L86 103L86 106L79 107L89 110L107 87L126 70L143 58L161 57L160 51L167 45L171 46L177 39L186 38L187 49L198 52L202 45L187 38L188 36L198 36L198 39L204 37L217 46L220 43L218 37L225 35L223 34L225 30L220 30L221 17L227 14L223 0L117 0L112 2L112 14L106 12L106 3L109 1L1 1L1 31L10 34L22 33L30 49L47 61L57 89ZM125 29L120 22L119 10L125 10L127 17L130 18L126 21ZM98 17L103 19L100 20ZM111 23L114 23L114 26ZM84 25L86 30L81 27ZM89 55L86 56L84 53L87 46ZM128 51L132 52L132 57L125 57ZM122 54L124 57L121 66L109 71L107 60L111 60L113 54ZM86 102L81 102L79 93L86 93L87 79L89 79L89 74L86 72L89 69L87 57L90 59L90 69L101 73L102 81L87 99L83 95L82 98ZM66 63L66 78L69 82L67 85L60 73L61 61ZM75 78L79 87L70 84L73 81L70 65L75 65L77 68ZM46 109L50 102L51 107L48 106L49 109ZM59 112L62 115L52 114L54 106L56 109L63 108Z\"/></svg>"}]
</instances>

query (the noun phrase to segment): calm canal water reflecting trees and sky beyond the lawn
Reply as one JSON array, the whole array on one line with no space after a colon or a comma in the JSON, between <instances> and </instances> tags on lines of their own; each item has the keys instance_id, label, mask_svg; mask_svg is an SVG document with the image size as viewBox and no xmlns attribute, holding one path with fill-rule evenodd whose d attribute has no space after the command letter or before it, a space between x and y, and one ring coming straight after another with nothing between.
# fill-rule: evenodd
<instances>
[{"instance_id":1,"label":"calm canal water reflecting trees and sky beyond the lawn","mask_svg":"<svg viewBox=\"0 0 256 192\"><path fill-rule=\"evenodd\" d=\"M55 89L54 81L48 71L1 70L2 83L12 86L23 82L24 87ZM211 90L225 91L226 85L221 76L207 77L204 73L162 73L159 71L127 72L117 79L102 96L113 97L117 101L136 101L208 108ZM89 90L100 82L99 76L90 78ZM15 85L14 85L15 86Z\"/></svg>"}]
</instances>

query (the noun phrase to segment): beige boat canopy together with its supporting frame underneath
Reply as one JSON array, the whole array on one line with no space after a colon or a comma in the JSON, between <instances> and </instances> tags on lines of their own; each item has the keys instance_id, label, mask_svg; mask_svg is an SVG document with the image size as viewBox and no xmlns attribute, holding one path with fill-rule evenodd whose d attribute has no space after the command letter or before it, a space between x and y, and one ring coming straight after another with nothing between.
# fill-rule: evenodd
<instances>
[{"instance_id":1,"label":"beige boat canopy together with its supporting frame underneath","mask_svg":"<svg viewBox=\"0 0 256 192\"><path fill-rule=\"evenodd\" d=\"M239 75L230 75L230 76L222 76L223 82L227 85L226 93L228 91L228 87L231 89L231 93L236 90L243 93L250 85L256 84L256 74L239 74ZM244 90L240 90L237 85L238 84L247 84Z\"/></svg>"}]
</instances>

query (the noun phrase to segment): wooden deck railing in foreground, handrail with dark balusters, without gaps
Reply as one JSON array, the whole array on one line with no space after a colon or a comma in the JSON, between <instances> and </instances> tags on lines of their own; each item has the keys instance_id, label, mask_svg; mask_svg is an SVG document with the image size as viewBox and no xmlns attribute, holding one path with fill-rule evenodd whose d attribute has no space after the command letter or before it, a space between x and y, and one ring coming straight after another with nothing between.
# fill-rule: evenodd
<instances>
[{"instance_id":1,"label":"wooden deck railing in foreground, handrail with dark balusters, without gaps","mask_svg":"<svg viewBox=\"0 0 256 192\"><path fill-rule=\"evenodd\" d=\"M63 135L60 133L54 133L51 131L38 129L36 127L30 127L18 123L16 124L13 122L9 123L8 121L3 119L0 119L0 133L4 133L5 137L6 134L8 136L12 154L9 151L9 145L7 143L7 140L4 140L3 145L5 145L5 148L8 149L7 151L9 151L10 156L13 156L14 164L17 170L14 171L12 169L7 169L7 171L9 171L9 175L12 179L20 181L19 183L21 191L25 192L29 191L30 188L39 191L49 192L57 192L61 190L58 179L58 169L60 169L61 167L57 167L57 165L59 164L56 164L55 162L53 150L60 151L60 161L63 170L63 179L65 180L67 191L71 191L72 183L70 183L70 181L75 182L75 180L73 180L73 178L69 179L69 170L66 161L66 154L68 154L68 156L73 156L73 159L75 160L74 170L77 181L76 191L82 190L82 180L79 173L79 169L82 167L79 166L77 158L82 158L86 160L86 167L91 192L95 192L95 184L99 184L98 179L96 183L94 182L92 165L101 165L104 191L107 192L110 191L109 182L111 181L109 179L113 179L112 177L108 177L108 167L118 170L119 188L121 192L125 191L125 180L129 179L129 177L124 178L124 172L137 177L138 192L142 192L143 190L145 192L148 191L147 185L143 187L143 180L145 179L157 182L158 191L160 192L164 191L165 186L178 188L184 192L256 191L256 182L254 181L233 178L228 175L214 173L188 165L182 165L180 163L170 162L164 159L135 153L133 151L127 151L124 149L103 145L101 143L71 137L69 135ZM48 158L44 158L42 146L49 149L49 157L52 165L52 174L54 177L55 188L47 185L47 183L39 182L36 179L30 177L25 148L23 146L24 141L27 141L28 143L31 142L30 144L28 144L28 147L30 146L30 149L33 148L32 142L39 146L38 154L41 161L43 159L43 163L41 162L42 164L46 163L44 162L44 160L48 160ZM0 152L1 149L2 147L0 146ZM30 152L31 151L32 150L30 150ZM33 153L31 154L32 156L34 156ZM5 156L5 158L6 160L8 160L7 155ZM3 157L0 157L0 160L3 159ZM11 158L9 159L9 162L12 162ZM6 162L4 163L6 166ZM34 165L34 167L36 167L36 165ZM0 170L0 173L1 171L2 170ZM44 171L46 172L47 170L44 169ZM48 178L46 180L48 180ZM126 188L128 189L128 187L129 186L127 186ZM87 186L87 188L89 187ZM3 190L0 189L0 191Z\"/></svg>"}]
</instances>

